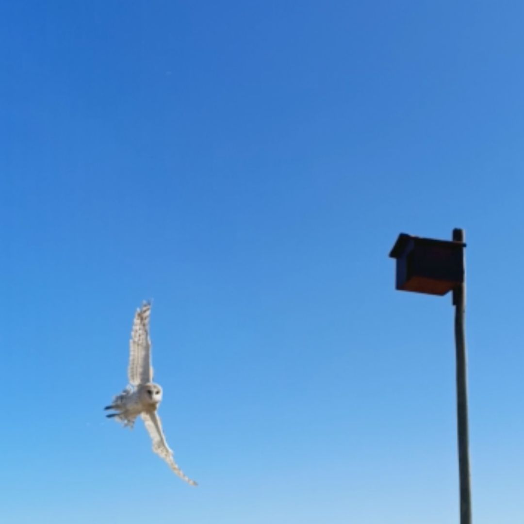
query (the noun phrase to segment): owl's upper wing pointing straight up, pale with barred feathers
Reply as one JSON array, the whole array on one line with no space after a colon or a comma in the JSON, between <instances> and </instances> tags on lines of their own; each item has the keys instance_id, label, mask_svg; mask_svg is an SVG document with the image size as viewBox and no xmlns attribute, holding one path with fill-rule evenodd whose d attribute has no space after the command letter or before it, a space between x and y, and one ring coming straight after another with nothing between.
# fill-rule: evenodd
<instances>
[{"instance_id":1,"label":"owl's upper wing pointing straight up, pale with barred feathers","mask_svg":"<svg viewBox=\"0 0 524 524\"><path fill-rule=\"evenodd\" d=\"M153 380L151 340L149 339L150 315L150 302L144 302L135 313L131 340L129 341L129 367L127 368L129 384L132 386L147 384Z\"/></svg>"}]
</instances>

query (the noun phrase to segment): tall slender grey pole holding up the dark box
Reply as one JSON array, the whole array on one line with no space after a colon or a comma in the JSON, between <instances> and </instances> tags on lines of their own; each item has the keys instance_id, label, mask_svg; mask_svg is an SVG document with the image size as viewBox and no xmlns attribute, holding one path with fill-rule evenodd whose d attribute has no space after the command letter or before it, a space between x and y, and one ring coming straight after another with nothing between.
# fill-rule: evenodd
<instances>
[{"instance_id":1,"label":"tall slender grey pole holding up the dark box","mask_svg":"<svg viewBox=\"0 0 524 524\"><path fill-rule=\"evenodd\" d=\"M464 230L454 229L453 240L464 242ZM465 266L464 266L465 272ZM471 524L471 476L467 422L467 360L464 317L466 310L466 277L453 291L455 305L457 432L459 440L460 522Z\"/></svg>"}]
</instances>

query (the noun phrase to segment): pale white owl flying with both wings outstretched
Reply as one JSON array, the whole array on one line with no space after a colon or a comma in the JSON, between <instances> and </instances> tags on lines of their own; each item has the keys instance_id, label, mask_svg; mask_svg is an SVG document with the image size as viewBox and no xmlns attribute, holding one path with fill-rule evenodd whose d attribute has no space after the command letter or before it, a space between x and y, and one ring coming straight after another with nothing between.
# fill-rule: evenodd
<instances>
[{"instance_id":1,"label":"pale white owl flying with both wings outstretched","mask_svg":"<svg viewBox=\"0 0 524 524\"><path fill-rule=\"evenodd\" d=\"M114 409L116 413L110 413L107 417L116 417L119 422L129 428L133 427L135 419L140 415L153 441L153 451L165 460L171 470L181 479L191 486L196 486L196 482L188 478L174 462L173 452L167 445L157 414L157 408L162 400L162 388L153 382L151 341L149 339L150 314L150 302L144 302L135 313L129 341L129 367L127 369L129 385L120 395L114 397L111 406L106 406L104 409Z\"/></svg>"}]
</instances>

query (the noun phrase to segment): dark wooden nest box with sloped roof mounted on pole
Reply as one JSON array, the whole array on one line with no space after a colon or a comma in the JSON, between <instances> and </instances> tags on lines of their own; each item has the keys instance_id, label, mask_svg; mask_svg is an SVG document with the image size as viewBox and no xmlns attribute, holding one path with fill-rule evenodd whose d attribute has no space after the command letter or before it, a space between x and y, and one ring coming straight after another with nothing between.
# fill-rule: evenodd
<instances>
[{"instance_id":1,"label":"dark wooden nest box with sloped roof mounted on pole","mask_svg":"<svg viewBox=\"0 0 524 524\"><path fill-rule=\"evenodd\" d=\"M464 242L401 233L389 256L397 260L396 288L446 294L464 282Z\"/></svg>"}]
</instances>

